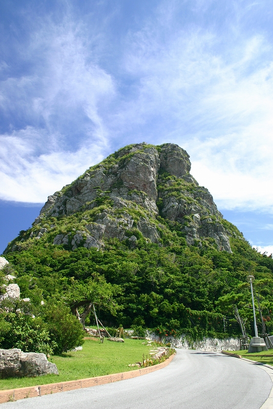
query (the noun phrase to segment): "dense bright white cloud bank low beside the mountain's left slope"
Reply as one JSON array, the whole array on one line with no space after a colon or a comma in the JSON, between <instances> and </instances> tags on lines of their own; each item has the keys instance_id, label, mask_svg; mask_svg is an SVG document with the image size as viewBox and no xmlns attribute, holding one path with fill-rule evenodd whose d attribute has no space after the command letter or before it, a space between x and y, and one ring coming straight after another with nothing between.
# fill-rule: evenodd
<instances>
[{"instance_id":1,"label":"dense bright white cloud bank low beside the mountain's left slope","mask_svg":"<svg viewBox=\"0 0 273 409\"><path fill-rule=\"evenodd\" d=\"M35 135L40 137L44 131L28 128L24 132L30 135L27 141L20 138L22 132L0 136L0 143L5 147L0 195L5 200L44 202L49 194L71 183L103 158L103 139L101 144L98 141L86 143L76 152L60 150L35 156L31 149L31 134L34 135L34 150Z\"/></svg>"}]
</instances>

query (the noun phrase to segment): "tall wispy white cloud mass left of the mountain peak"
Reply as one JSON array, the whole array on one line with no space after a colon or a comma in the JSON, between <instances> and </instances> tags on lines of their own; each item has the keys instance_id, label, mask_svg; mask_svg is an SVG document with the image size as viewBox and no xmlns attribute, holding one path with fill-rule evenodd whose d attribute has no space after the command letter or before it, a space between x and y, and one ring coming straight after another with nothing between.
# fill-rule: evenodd
<instances>
[{"instance_id":1,"label":"tall wispy white cloud mass left of the mountain peak","mask_svg":"<svg viewBox=\"0 0 273 409\"><path fill-rule=\"evenodd\" d=\"M115 95L109 74L92 62L84 36L70 23L33 33L31 72L2 81L0 104L25 126L0 135L0 197L43 202L102 160L107 129L99 109Z\"/></svg>"}]
</instances>

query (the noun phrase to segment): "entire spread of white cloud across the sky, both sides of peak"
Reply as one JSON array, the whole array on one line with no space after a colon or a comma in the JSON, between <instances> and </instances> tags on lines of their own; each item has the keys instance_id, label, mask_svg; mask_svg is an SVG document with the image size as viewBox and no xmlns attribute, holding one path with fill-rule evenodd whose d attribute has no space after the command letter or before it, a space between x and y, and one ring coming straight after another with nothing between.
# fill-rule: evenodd
<instances>
[{"instance_id":1,"label":"entire spread of white cloud across the sky, both sides of peak","mask_svg":"<svg viewBox=\"0 0 273 409\"><path fill-rule=\"evenodd\" d=\"M192 7L197 13L208 3ZM92 35L90 25L87 40L87 27L69 18L44 21L24 50L33 67L1 83L0 104L18 124L0 136L0 196L44 201L110 144L145 140L185 148L193 175L221 208L273 212L272 46L265 31L240 32L244 5L236 30L230 23L219 33L184 27L175 17L181 4L160 3L142 30L121 38L119 80L98 63L106 58L103 30Z\"/></svg>"}]
</instances>

